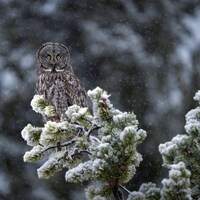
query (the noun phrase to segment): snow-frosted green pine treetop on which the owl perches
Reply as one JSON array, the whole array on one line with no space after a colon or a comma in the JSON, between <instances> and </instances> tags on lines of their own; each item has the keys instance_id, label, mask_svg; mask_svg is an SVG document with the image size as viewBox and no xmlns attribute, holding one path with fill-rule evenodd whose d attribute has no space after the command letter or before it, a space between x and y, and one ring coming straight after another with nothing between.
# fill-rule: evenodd
<instances>
[{"instance_id":1,"label":"snow-frosted green pine treetop on which the owl perches","mask_svg":"<svg viewBox=\"0 0 200 200\"><path fill-rule=\"evenodd\" d=\"M137 146L146 132L138 129L134 113L113 107L106 91L97 87L88 91L88 96L93 104L92 114L88 108L72 105L64 121L47 121L39 128L28 124L22 130L22 137L33 147L25 153L24 161L46 159L37 170L39 178L49 178L65 168L68 182L103 182L102 187L87 190L88 199L107 199L112 194L115 199L122 199L119 185L134 176L142 160ZM55 115L55 109L43 96L35 95L31 106L47 117ZM83 160L83 155L88 159Z\"/></svg>"}]
</instances>

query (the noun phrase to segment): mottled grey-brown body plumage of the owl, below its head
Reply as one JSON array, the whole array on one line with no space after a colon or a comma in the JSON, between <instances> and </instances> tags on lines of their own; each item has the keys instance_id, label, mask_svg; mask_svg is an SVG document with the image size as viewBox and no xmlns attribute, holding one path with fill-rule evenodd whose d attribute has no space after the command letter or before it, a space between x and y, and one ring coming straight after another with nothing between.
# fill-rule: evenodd
<instances>
[{"instance_id":1,"label":"mottled grey-brown body plumage of the owl, below its head","mask_svg":"<svg viewBox=\"0 0 200 200\"><path fill-rule=\"evenodd\" d=\"M68 106L87 106L86 91L74 74L41 74L36 83L36 94L43 95L60 117L64 116Z\"/></svg>"}]
</instances>

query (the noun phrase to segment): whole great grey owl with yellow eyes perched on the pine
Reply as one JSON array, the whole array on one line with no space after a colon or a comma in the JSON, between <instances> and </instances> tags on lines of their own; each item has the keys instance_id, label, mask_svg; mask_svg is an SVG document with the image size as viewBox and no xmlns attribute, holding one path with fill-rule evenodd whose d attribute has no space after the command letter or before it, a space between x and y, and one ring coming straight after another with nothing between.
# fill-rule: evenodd
<instances>
[{"instance_id":1,"label":"whole great grey owl with yellow eyes perched on the pine","mask_svg":"<svg viewBox=\"0 0 200 200\"><path fill-rule=\"evenodd\" d=\"M87 106L86 92L74 75L68 48L60 43L45 43L36 54L38 81L36 94L43 95L56 109L57 119L65 117L68 106Z\"/></svg>"}]
</instances>

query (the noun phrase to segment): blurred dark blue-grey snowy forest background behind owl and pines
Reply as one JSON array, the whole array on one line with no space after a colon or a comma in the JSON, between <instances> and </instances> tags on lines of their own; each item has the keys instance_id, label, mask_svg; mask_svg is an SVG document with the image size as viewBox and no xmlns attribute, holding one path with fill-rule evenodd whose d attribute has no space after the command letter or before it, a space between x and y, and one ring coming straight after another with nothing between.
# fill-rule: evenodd
<instances>
[{"instance_id":1,"label":"blurred dark blue-grey snowy forest background behind owl and pines","mask_svg":"<svg viewBox=\"0 0 200 200\"><path fill-rule=\"evenodd\" d=\"M69 184L60 172L39 180L41 165L23 162L30 148L21 138L40 125L30 101L35 53L42 43L66 44L86 89L107 90L115 107L134 111L148 137L143 162L127 184L167 176L158 145L184 133L185 114L200 89L199 0L0 0L0 199L85 199L88 183Z\"/></svg>"}]
</instances>

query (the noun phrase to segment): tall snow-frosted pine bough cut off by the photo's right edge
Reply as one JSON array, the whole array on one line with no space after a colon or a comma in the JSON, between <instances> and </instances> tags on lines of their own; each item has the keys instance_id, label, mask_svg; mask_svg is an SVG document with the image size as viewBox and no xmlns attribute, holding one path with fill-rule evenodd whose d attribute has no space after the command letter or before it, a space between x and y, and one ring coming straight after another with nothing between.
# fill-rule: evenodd
<instances>
[{"instance_id":1,"label":"tall snow-frosted pine bough cut off by the photo's right edge","mask_svg":"<svg viewBox=\"0 0 200 200\"><path fill-rule=\"evenodd\" d=\"M200 91L194 100L200 104ZM170 169L162 181L162 199L200 199L200 107L186 114L186 134L160 144L163 165Z\"/></svg>"}]
</instances>

